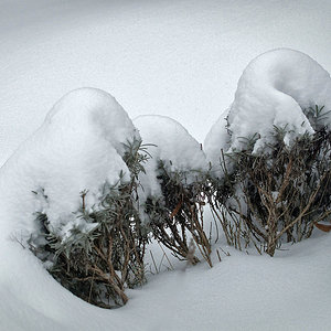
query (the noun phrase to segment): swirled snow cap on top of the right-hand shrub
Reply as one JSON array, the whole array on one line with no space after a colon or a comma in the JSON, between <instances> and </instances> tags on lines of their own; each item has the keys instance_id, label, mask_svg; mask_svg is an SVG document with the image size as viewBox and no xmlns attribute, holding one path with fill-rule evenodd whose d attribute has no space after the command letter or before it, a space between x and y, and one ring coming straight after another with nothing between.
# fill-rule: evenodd
<instances>
[{"instance_id":1,"label":"swirled snow cap on top of the right-hand shrub","mask_svg":"<svg viewBox=\"0 0 331 331\"><path fill-rule=\"evenodd\" d=\"M303 109L331 109L331 78L310 56L288 49L273 50L253 60L239 78L229 109L205 138L205 152L214 163L220 150L242 149L243 137L258 134L254 152L270 142L274 126L286 127L285 142L298 135L312 134ZM224 119L228 115L227 121ZM228 124L227 134L225 126ZM331 116L325 125L331 124Z\"/></svg>"}]
</instances>

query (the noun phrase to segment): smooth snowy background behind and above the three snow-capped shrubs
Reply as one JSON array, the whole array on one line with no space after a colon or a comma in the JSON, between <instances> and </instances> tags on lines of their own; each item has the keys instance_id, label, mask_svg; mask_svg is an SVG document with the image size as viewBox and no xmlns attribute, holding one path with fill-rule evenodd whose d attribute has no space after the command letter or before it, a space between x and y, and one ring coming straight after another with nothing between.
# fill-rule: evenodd
<instances>
[{"instance_id":1,"label":"smooth snowy background behind and above the three snow-capped shrubs","mask_svg":"<svg viewBox=\"0 0 331 331\"><path fill-rule=\"evenodd\" d=\"M329 31L329 0L1 0L0 163L82 86L203 142L250 60L290 47L330 71Z\"/></svg>"}]
</instances>

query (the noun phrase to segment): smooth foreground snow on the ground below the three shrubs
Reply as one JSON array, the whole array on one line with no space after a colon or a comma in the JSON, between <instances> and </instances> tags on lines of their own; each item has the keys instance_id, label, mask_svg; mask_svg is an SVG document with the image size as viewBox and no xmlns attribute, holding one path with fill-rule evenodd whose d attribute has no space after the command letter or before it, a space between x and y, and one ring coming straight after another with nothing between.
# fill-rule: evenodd
<instances>
[{"instance_id":1,"label":"smooth foreground snow on the ground below the three shrubs","mask_svg":"<svg viewBox=\"0 0 331 331\"><path fill-rule=\"evenodd\" d=\"M1 330L330 330L329 235L274 258L223 246L231 256L220 250L212 269L150 276L128 292L126 307L110 311L64 290L17 243L0 247Z\"/></svg>"}]
</instances>

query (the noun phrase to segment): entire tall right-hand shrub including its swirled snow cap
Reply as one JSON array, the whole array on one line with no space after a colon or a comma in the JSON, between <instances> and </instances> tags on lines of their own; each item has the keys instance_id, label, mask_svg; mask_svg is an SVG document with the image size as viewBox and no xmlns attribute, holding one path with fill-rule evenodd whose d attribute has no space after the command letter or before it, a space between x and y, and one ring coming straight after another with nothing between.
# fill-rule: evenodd
<instances>
[{"instance_id":1,"label":"entire tall right-hand shrub including its swirled snow cap","mask_svg":"<svg viewBox=\"0 0 331 331\"><path fill-rule=\"evenodd\" d=\"M274 255L329 216L330 109L330 75L302 53L268 52L245 70L205 139L209 200L229 244Z\"/></svg>"}]
</instances>

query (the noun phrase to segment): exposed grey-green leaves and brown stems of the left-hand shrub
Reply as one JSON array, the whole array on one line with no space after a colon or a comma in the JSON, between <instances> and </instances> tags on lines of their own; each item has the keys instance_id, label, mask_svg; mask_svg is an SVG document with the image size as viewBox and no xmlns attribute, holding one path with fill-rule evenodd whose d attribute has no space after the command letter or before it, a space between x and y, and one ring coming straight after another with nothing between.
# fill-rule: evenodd
<instances>
[{"instance_id":1,"label":"exposed grey-green leaves and brown stems of the left-hand shrub","mask_svg":"<svg viewBox=\"0 0 331 331\"><path fill-rule=\"evenodd\" d=\"M116 184L105 183L99 203L88 210L88 191L81 192L82 204L74 212L76 221L66 237L60 237L58 231L50 226L45 213L35 215L39 237L45 241L31 241L32 250L46 263L56 280L96 306L122 306L128 300L125 288L145 282L148 228L140 220L137 188L138 174L145 172L148 158L140 140L128 141L124 160L130 179L120 173Z\"/></svg>"}]
</instances>

